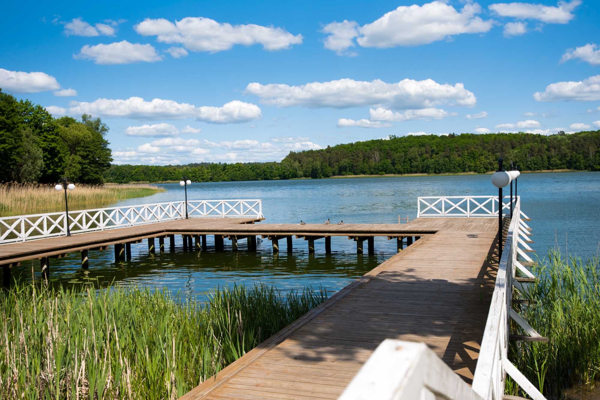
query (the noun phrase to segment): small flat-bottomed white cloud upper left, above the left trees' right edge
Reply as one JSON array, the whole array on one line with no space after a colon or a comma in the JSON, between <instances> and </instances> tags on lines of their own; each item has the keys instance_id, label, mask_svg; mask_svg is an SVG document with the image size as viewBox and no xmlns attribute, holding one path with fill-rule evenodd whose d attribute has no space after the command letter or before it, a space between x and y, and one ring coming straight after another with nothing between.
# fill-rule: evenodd
<instances>
[{"instance_id":1,"label":"small flat-bottomed white cloud upper left, above the left trees' right edge","mask_svg":"<svg viewBox=\"0 0 600 400\"><path fill-rule=\"evenodd\" d=\"M162 58L151 44L129 43L127 40L110 44L86 44L75 59L94 60L97 64L130 64L134 62L156 62Z\"/></svg>"}]
</instances>

